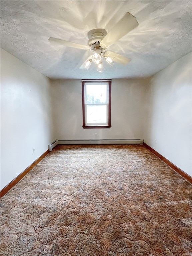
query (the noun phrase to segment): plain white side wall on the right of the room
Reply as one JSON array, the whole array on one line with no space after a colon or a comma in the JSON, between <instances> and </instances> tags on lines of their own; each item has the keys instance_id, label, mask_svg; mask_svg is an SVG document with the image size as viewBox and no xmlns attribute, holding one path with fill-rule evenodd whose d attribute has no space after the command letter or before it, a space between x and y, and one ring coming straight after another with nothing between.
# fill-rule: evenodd
<instances>
[{"instance_id":1,"label":"plain white side wall on the right of the room","mask_svg":"<svg viewBox=\"0 0 192 256\"><path fill-rule=\"evenodd\" d=\"M144 142L192 176L192 54L151 78ZM156 143L155 143L156 140Z\"/></svg>"}]
</instances>

